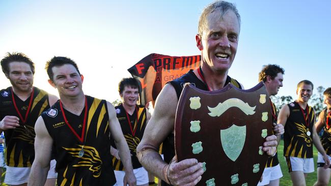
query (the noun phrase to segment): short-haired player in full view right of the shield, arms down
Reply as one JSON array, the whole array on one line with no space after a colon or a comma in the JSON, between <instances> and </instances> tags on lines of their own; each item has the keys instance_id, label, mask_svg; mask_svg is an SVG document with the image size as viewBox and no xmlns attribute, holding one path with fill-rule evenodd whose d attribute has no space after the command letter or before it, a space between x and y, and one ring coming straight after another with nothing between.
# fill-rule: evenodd
<instances>
[{"instance_id":1,"label":"short-haired player in full view right of the shield, arms down","mask_svg":"<svg viewBox=\"0 0 331 186\"><path fill-rule=\"evenodd\" d=\"M283 106L278 116L278 123L285 128L284 156L293 185L306 185L307 173L314 172L313 143L322 154L324 168L330 166L314 127L314 109L308 105L313 86L308 80L300 81L296 89L297 100Z\"/></svg>"}]
</instances>

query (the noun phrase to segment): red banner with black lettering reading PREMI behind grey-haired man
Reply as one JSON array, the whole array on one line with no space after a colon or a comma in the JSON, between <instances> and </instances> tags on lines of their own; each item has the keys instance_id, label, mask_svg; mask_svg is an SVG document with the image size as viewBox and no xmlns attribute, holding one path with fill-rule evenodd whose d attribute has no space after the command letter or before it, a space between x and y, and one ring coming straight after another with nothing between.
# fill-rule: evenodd
<instances>
[{"instance_id":1,"label":"red banner with black lettering reading PREMI behind grey-haired man","mask_svg":"<svg viewBox=\"0 0 331 186\"><path fill-rule=\"evenodd\" d=\"M140 82L141 104L154 101L162 87L201 64L201 55L169 56L152 53L128 69Z\"/></svg>"}]
</instances>

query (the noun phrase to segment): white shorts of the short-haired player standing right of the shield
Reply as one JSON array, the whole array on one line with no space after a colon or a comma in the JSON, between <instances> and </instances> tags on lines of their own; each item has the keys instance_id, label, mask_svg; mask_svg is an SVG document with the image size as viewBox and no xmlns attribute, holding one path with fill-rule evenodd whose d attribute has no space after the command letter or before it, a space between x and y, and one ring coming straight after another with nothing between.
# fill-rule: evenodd
<instances>
[{"instance_id":1,"label":"white shorts of the short-haired player standing right of the shield","mask_svg":"<svg viewBox=\"0 0 331 186\"><path fill-rule=\"evenodd\" d=\"M313 158L285 157L289 172L303 171L304 173L314 172Z\"/></svg>"}]
</instances>

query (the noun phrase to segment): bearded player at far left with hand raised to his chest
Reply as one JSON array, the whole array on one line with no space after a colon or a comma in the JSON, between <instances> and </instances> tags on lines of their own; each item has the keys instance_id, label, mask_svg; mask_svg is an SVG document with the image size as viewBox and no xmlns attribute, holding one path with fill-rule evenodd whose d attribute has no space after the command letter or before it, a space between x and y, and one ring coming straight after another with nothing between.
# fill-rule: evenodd
<instances>
[{"instance_id":1,"label":"bearded player at far left with hand raised to his chest","mask_svg":"<svg viewBox=\"0 0 331 186\"><path fill-rule=\"evenodd\" d=\"M0 133L4 131L6 138L4 182L26 185L35 159L35 122L58 98L33 86L35 64L25 54L7 53L1 60L1 67L12 84L0 90ZM51 161L46 185L55 184L55 164Z\"/></svg>"}]
</instances>

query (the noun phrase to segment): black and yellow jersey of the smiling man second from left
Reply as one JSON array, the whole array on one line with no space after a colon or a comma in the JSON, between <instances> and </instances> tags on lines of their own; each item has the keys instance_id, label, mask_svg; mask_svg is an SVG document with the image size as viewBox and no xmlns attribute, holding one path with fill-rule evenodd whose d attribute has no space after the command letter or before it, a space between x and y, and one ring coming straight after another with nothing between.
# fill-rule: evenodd
<instances>
[{"instance_id":1,"label":"black and yellow jersey of the smiling man second from left","mask_svg":"<svg viewBox=\"0 0 331 186\"><path fill-rule=\"evenodd\" d=\"M60 101L41 114L46 129L53 139L54 157L57 161L58 185L113 185L116 182L111 164L109 115L105 100L90 96L87 99L85 134L85 109L77 116L64 110L72 132L64 120ZM80 150L84 145L84 154ZM80 156L81 155L81 156Z\"/></svg>"}]
</instances>

